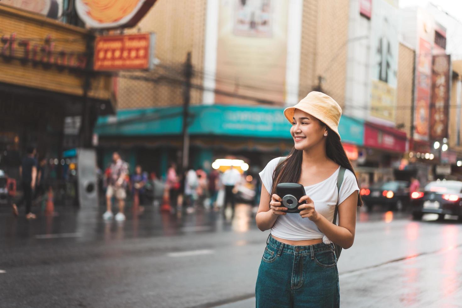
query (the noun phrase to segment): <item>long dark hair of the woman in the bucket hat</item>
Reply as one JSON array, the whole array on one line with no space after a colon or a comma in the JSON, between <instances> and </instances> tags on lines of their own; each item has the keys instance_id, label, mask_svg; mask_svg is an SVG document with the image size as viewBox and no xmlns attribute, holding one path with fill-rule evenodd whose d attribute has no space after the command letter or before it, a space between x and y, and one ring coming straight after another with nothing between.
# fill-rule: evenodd
<instances>
[{"instance_id":1,"label":"long dark hair of the woman in the bucket hat","mask_svg":"<svg viewBox=\"0 0 462 308\"><path fill-rule=\"evenodd\" d=\"M339 136L328 126L326 126L326 128L328 131L326 140L327 157L332 159L335 163L338 163L343 168L350 170L353 172L353 175L355 175L353 166L351 165L348 157L346 157L346 152L340 142ZM271 187L270 196L276 193L276 185L279 183L298 183L302 173L302 159L303 151L296 150L294 147L286 159L278 163L273 173L273 186ZM358 183L358 178L356 178L356 182ZM361 199L361 195L358 194L358 206L361 205L363 205L363 200Z\"/></svg>"}]
</instances>

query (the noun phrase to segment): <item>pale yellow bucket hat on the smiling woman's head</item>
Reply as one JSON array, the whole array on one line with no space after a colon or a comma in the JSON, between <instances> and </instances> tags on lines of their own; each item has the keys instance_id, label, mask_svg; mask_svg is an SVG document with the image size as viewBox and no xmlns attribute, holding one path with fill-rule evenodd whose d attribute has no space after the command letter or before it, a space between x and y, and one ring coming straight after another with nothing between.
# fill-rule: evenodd
<instances>
[{"instance_id":1,"label":"pale yellow bucket hat on the smiling woman's head","mask_svg":"<svg viewBox=\"0 0 462 308\"><path fill-rule=\"evenodd\" d=\"M342 109L334 99L322 92L312 91L297 105L284 109L284 115L292 123L295 109L300 109L314 116L332 129L340 138L339 122ZM341 139L341 138L340 138Z\"/></svg>"}]
</instances>

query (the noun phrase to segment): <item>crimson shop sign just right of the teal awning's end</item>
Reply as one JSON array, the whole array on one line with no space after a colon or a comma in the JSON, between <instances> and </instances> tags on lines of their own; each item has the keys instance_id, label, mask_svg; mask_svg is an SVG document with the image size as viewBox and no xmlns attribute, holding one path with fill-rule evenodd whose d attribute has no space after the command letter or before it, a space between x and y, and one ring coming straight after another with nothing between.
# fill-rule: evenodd
<instances>
[{"instance_id":1,"label":"crimson shop sign just right of the teal awning's end","mask_svg":"<svg viewBox=\"0 0 462 308\"><path fill-rule=\"evenodd\" d=\"M404 153L406 151L406 133L391 127L366 123L364 126L364 146Z\"/></svg>"}]
</instances>

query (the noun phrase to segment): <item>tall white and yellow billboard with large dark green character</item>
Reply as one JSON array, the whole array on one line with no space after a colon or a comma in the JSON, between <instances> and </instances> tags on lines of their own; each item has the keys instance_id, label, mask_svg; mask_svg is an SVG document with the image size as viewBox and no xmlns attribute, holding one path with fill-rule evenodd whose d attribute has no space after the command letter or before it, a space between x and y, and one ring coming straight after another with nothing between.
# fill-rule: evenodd
<instances>
[{"instance_id":1,"label":"tall white and yellow billboard with large dark green character","mask_svg":"<svg viewBox=\"0 0 462 308\"><path fill-rule=\"evenodd\" d=\"M394 124L398 66L398 9L388 1L372 2L370 117Z\"/></svg>"}]
</instances>

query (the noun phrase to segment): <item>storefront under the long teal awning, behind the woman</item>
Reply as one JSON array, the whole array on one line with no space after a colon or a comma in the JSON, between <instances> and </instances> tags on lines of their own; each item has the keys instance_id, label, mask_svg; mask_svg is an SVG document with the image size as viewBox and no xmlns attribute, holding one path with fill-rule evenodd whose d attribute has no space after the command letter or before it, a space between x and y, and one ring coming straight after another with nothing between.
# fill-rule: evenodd
<instances>
[{"instance_id":1,"label":"storefront under the long teal awning, behind the woman","mask_svg":"<svg viewBox=\"0 0 462 308\"><path fill-rule=\"evenodd\" d=\"M216 159L235 157L255 173L274 157L293 147L290 123L284 108L268 106L196 105L190 107L190 164L210 169ZM342 142L351 159L363 144L363 122L342 116ZM101 117L95 133L99 139L98 162L105 167L112 151L121 151L131 168L141 164L146 171L163 175L170 161L180 161L182 108L119 110Z\"/></svg>"}]
</instances>

